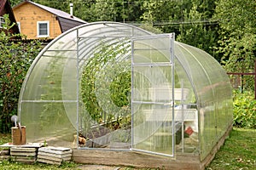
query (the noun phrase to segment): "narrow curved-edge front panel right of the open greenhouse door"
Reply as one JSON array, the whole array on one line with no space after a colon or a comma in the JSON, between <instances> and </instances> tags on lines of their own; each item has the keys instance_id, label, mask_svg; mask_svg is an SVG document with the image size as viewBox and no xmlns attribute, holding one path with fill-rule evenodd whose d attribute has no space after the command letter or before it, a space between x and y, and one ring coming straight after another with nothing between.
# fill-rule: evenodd
<instances>
[{"instance_id":1,"label":"narrow curved-edge front panel right of the open greenhouse door","mask_svg":"<svg viewBox=\"0 0 256 170\"><path fill-rule=\"evenodd\" d=\"M176 152L200 154L197 101L188 73L175 58Z\"/></svg>"}]
</instances>

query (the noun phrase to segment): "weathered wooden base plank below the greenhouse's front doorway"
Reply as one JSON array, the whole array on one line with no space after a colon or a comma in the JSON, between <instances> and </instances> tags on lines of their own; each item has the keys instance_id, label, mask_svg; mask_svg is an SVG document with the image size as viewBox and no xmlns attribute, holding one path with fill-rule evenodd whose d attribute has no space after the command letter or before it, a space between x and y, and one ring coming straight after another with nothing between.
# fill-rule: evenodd
<instances>
[{"instance_id":1,"label":"weathered wooden base plank below the greenhouse's front doorway","mask_svg":"<svg viewBox=\"0 0 256 170\"><path fill-rule=\"evenodd\" d=\"M199 170L200 156L177 154L175 158L125 150L73 150L73 161L85 164Z\"/></svg>"}]
</instances>

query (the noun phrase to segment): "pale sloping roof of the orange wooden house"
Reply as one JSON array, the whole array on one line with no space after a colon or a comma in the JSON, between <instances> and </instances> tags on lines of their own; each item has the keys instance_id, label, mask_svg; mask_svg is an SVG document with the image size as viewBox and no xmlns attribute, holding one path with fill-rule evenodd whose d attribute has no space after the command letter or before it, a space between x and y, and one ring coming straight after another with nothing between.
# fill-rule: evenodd
<instances>
[{"instance_id":1,"label":"pale sloping roof of the orange wooden house","mask_svg":"<svg viewBox=\"0 0 256 170\"><path fill-rule=\"evenodd\" d=\"M39 3L34 3L34 2L32 2L32 1L23 1L23 2L21 2L21 3L19 3L19 4L17 4L13 9L20 7L21 5L23 5L23 4L25 4L25 3L31 3L31 4L33 4L33 5L37 6L37 7L39 7L39 8L43 8L44 10L48 11L48 12L51 13L51 14L55 14L55 15L61 17L61 18L65 18L65 19L67 19L67 20L73 20L73 21L76 21L76 22L84 23L84 24L87 23L87 22L85 22L84 20L81 20L81 19L79 19L79 18L77 18L77 17L75 17L75 16L72 16L71 14L67 14L67 13L64 12L64 11L61 11L61 10L56 9L56 8L50 8L50 7L41 5L41 4L39 4Z\"/></svg>"}]
</instances>

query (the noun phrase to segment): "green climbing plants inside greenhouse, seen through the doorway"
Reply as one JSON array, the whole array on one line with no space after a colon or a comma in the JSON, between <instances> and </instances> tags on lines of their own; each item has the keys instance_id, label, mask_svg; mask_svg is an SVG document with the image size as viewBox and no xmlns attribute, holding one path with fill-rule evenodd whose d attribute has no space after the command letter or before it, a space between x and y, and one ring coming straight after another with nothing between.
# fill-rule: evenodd
<instances>
[{"instance_id":1,"label":"green climbing plants inside greenhouse, seen through the doorway","mask_svg":"<svg viewBox=\"0 0 256 170\"><path fill-rule=\"evenodd\" d=\"M86 111L98 123L130 113L131 61L122 59L129 51L123 42L99 45L93 57L84 63L82 100Z\"/></svg>"}]
</instances>

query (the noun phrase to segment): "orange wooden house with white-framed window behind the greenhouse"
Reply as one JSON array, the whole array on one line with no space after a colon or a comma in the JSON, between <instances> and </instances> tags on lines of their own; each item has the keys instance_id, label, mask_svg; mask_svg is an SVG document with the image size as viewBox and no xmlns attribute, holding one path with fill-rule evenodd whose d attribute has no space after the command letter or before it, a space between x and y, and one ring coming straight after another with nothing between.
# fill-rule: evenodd
<instances>
[{"instance_id":1,"label":"orange wooden house with white-framed window behind the greenhouse","mask_svg":"<svg viewBox=\"0 0 256 170\"><path fill-rule=\"evenodd\" d=\"M62 32L75 26L86 24L73 14L67 14L59 9L24 1L13 8L15 19L20 27L20 33L27 39L53 39Z\"/></svg>"}]
</instances>

